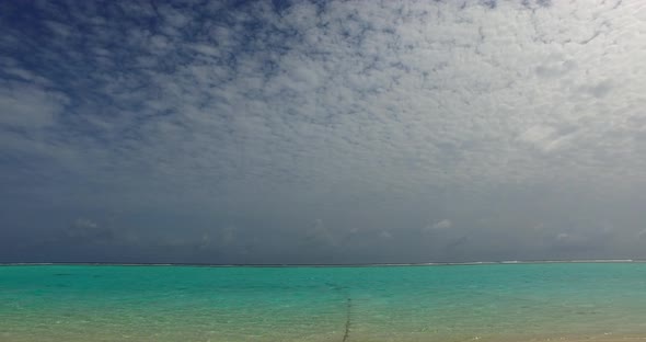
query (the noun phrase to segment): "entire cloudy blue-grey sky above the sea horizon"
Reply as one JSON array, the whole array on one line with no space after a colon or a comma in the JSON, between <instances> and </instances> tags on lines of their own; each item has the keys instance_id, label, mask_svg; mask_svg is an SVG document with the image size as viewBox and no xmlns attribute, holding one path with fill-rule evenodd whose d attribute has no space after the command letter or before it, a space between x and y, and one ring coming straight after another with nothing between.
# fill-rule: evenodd
<instances>
[{"instance_id":1,"label":"entire cloudy blue-grey sky above the sea horizon","mask_svg":"<svg viewBox=\"0 0 646 342\"><path fill-rule=\"evenodd\" d=\"M2 1L0 262L646 259L646 2Z\"/></svg>"}]
</instances>

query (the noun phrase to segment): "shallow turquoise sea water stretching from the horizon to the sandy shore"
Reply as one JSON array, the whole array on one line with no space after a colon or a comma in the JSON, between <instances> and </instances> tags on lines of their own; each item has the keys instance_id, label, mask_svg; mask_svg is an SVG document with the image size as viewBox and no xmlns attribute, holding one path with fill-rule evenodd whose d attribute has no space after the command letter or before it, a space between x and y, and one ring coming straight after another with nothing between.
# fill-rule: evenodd
<instances>
[{"instance_id":1,"label":"shallow turquoise sea water stretching from the horizon to the sandy shore","mask_svg":"<svg viewBox=\"0 0 646 342\"><path fill-rule=\"evenodd\" d=\"M0 266L0 341L646 337L646 264Z\"/></svg>"}]
</instances>

